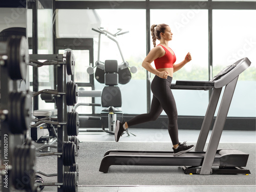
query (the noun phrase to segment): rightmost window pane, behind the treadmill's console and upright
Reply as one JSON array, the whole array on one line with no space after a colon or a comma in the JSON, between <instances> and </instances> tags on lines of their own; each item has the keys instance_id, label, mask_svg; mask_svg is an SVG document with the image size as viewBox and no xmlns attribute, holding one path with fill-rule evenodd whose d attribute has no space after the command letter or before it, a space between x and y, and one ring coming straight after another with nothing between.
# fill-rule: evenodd
<instances>
[{"instance_id":1,"label":"rightmost window pane, behind the treadmill's console and upright","mask_svg":"<svg viewBox=\"0 0 256 192\"><path fill-rule=\"evenodd\" d=\"M256 11L213 10L214 75L240 58L256 62ZM251 65L238 79L228 116L255 117L256 67Z\"/></svg>"}]
</instances>

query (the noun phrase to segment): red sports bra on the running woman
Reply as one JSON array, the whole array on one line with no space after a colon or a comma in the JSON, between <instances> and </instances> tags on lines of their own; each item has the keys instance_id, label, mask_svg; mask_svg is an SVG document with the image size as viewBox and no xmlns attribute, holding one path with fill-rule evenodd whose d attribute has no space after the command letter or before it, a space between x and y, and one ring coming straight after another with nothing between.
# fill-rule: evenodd
<instances>
[{"instance_id":1,"label":"red sports bra on the running woman","mask_svg":"<svg viewBox=\"0 0 256 192\"><path fill-rule=\"evenodd\" d=\"M162 46L162 45L158 45L158 46ZM164 46L162 46L162 47L165 50L165 54L164 54L164 56L158 57L157 59L154 60L156 69L173 68L174 67L173 64L176 61L175 54L173 55L172 53L170 53L170 51L168 49L166 49Z\"/></svg>"}]
</instances>

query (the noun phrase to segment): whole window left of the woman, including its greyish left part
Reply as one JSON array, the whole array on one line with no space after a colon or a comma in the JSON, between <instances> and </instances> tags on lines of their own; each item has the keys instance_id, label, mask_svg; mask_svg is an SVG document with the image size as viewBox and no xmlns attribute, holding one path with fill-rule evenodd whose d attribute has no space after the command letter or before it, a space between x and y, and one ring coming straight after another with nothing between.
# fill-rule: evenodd
<instances>
[{"instance_id":1,"label":"whole window left of the woman, including its greyish left part","mask_svg":"<svg viewBox=\"0 0 256 192\"><path fill-rule=\"evenodd\" d=\"M140 114L146 112L146 70L141 63L146 56L146 14L145 10L117 10L99 9L86 10L60 9L57 11L57 37L86 37L94 38L94 63L98 58L98 33L92 28L103 27L111 33L129 33L116 37L119 42L123 57L129 65L137 67L138 71L132 74L132 79L127 84L119 84L122 93L122 111L127 114ZM82 19L77 19L82 18ZM101 35L100 61L107 59L122 62L121 55L115 42L105 35ZM86 65L84 63L84 65ZM86 66L84 66L86 67ZM89 76L89 74L88 74ZM105 84L100 84L95 79L95 90L102 90ZM138 95L140 97L138 97ZM100 98L95 98L100 103ZM100 113L101 108L96 107L95 113Z\"/></svg>"}]
</instances>

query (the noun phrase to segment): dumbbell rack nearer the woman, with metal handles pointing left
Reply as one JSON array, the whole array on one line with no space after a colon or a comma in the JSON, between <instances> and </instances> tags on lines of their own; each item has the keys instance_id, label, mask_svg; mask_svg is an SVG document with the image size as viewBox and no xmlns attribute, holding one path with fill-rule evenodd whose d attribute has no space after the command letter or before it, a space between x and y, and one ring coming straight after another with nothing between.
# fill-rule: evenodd
<instances>
[{"instance_id":1,"label":"dumbbell rack nearer the woman, with metal handles pointing left","mask_svg":"<svg viewBox=\"0 0 256 192\"><path fill-rule=\"evenodd\" d=\"M37 60L45 60L48 59L45 62L39 62ZM60 54L52 54L52 55L41 55L41 54L33 54L30 55L30 65L33 67L42 67L45 65L56 65L57 66L57 90L41 90L39 92L34 93L34 96L37 96L39 94L53 94L57 95L55 97L56 101L56 108L57 108L57 122L53 121L40 121L42 123L49 123L49 124L57 124L57 153L56 154L61 154L57 155L57 183L41 183L41 186L47 186L47 185L58 185L58 192L66 191L67 187L71 187L72 190L74 189L74 185L77 185L77 183L67 183L67 179L69 179L69 170L68 167L65 166L67 163L67 159L65 159L65 156L67 153L63 152L63 144L68 141L68 135L70 135L70 130L67 130L67 127L70 126L74 129L77 128L77 126L74 126L72 123L70 123L69 119L67 123L66 121L66 116L67 116L67 108L66 108L66 103L67 105L74 105L77 101L77 96L78 96L78 91L77 91L77 86L73 82L68 82L67 87L66 85L66 70L68 75L73 75L74 74L74 67L75 67L75 61L74 61L74 56L71 51L68 51L66 55L60 55ZM66 68L65 68L66 67ZM77 92L77 95L76 95ZM68 118L69 115L76 115L74 113L68 113ZM76 115L78 116L78 114ZM72 119L74 119L74 122L76 122L76 116L74 116ZM79 117L78 117L79 118ZM73 122L73 120L71 120ZM79 119L78 119L79 122ZM36 123L37 124L37 123ZM31 127L35 126L31 125ZM71 125L72 124L72 125ZM78 128L77 128L78 129ZM78 130L75 131L75 135L78 134ZM63 151L62 151L63 150ZM66 154L66 155L64 155ZM48 155L55 155L55 153L44 153L41 155L37 156L48 156ZM65 173L67 172L67 173ZM37 172L41 173L44 175L42 172ZM55 174L54 174L55 175ZM46 176L46 175L45 175ZM65 181L63 181L65 180ZM63 185L65 186L63 187ZM73 186L71 186L73 185ZM77 187L76 187L77 190Z\"/></svg>"}]
</instances>

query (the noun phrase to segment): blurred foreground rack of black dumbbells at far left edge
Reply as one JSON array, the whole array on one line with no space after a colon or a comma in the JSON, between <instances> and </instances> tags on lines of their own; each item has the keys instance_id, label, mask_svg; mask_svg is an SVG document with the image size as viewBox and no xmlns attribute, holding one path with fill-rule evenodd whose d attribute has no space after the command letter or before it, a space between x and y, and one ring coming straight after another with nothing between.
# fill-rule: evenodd
<instances>
[{"instance_id":1,"label":"blurred foreground rack of black dumbbells at far left edge","mask_svg":"<svg viewBox=\"0 0 256 192\"><path fill-rule=\"evenodd\" d=\"M22 156L22 154L19 154L20 156L15 154L20 149L19 146L23 146L23 152L31 157L31 163L27 163L26 168L23 167L24 172L28 172L28 170L33 172L33 157L35 157L35 154L31 154L31 152L34 150L34 145L30 141L22 145L24 134L29 129L32 100L30 100L31 96L28 92L20 92L18 88L20 79L26 79L27 64L28 48L25 37L12 36L7 41L0 42L1 171L3 192L15 191L14 186L18 182L16 182L18 179L16 178L15 170L21 168L21 163L15 164L15 160ZM26 163L26 158L24 158L24 163ZM33 173L31 174L33 175ZM34 183L33 177L29 177L27 182L27 185ZM24 187L20 185L19 188L24 189Z\"/></svg>"}]
</instances>

